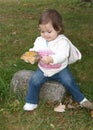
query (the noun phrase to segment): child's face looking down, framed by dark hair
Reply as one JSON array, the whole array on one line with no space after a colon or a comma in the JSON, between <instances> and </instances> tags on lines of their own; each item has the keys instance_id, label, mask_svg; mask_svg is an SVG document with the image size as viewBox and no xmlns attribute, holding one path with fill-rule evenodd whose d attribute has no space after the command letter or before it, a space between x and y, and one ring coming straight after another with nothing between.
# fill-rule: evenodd
<instances>
[{"instance_id":1,"label":"child's face looking down, framed by dark hair","mask_svg":"<svg viewBox=\"0 0 93 130\"><path fill-rule=\"evenodd\" d=\"M43 38L47 41L52 41L57 38L58 31L54 30L51 22L47 24L40 24L39 25L40 34Z\"/></svg>"}]
</instances>

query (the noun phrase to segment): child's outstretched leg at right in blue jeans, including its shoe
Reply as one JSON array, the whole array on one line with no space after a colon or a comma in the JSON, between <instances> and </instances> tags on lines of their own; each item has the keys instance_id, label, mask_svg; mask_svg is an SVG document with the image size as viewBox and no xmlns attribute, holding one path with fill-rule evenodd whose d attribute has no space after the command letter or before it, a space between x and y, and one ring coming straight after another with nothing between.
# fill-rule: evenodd
<instances>
[{"instance_id":1,"label":"child's outstretched leg at right in blue jeans, including its shoe","mask_svg":"<svg viewBox=\"0 0 93 130\"><path fill-rule=\"evenodd\" d=\"M84 94L81 93L68 67L59 72L58 74L54 75L52 78L59 81L72 95L73 99L79 102L81 106L88 109L93 109L93 103L88 101L85 98Z\"/></svg>"}]
</instances>

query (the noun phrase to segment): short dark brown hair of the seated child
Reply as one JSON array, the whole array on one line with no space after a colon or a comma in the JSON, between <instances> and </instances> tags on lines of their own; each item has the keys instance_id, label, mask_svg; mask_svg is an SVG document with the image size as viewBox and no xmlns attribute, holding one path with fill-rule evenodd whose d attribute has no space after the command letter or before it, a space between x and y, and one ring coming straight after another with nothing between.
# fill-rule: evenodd
<instances>
[{"instance_id":1,"label":"short dark brown hair of the seated child","mask_svg":"<svg viewBox=\"0 0 93 130\"><path fill-rule=\"evenodd\" d=\"M59 34L64 33L62 17L55 9L48 9L41 14L39 24L47 24L48 22L52 23L53 28L59 31Z\"/></svg>"}]
</instances>

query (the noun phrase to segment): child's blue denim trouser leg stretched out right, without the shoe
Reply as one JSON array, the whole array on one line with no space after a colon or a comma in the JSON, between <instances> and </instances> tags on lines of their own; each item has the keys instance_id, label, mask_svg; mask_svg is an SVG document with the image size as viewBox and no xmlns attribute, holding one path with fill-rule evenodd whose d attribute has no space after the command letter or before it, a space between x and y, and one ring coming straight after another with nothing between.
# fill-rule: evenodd
<instances>
[{"instance_id":1,"label":"child's blue denim trouser leg stretched out right, without the shoe","mask_svg":"<svg viewBox=\"0 0 93 130\"><path fill-rule=\"evenodd\" d=\"M80 92L79 87L75 83L69 68L65 68L57 75L57 80L65 87L65 89L72 95L73 99L80 102L84 99L84 95Z\"/></svg>"}]
</instances>

